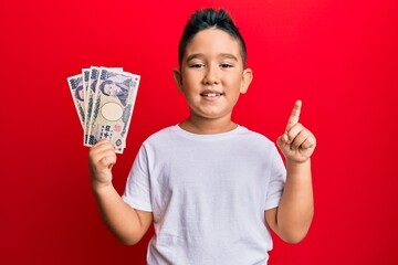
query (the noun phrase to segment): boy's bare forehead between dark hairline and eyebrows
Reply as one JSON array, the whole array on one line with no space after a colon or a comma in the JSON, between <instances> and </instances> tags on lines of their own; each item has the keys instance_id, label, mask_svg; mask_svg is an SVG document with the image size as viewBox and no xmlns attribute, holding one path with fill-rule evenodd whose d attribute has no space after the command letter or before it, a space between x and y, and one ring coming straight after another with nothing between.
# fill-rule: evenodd
<instances>
[{"instance_id":1,"label":"boy's bare forehead between dark hairline and eyebrows","mask_svg":"<svg viewBox=\"0 0 398 265\"><path fill-rule=\"evenodd\" d=\"M198 32L187 44L185 59L196 53L203 54L205 56L232 54L239 60L242 60L238 40L216 28Z\"/></svg>"}]
</instances>

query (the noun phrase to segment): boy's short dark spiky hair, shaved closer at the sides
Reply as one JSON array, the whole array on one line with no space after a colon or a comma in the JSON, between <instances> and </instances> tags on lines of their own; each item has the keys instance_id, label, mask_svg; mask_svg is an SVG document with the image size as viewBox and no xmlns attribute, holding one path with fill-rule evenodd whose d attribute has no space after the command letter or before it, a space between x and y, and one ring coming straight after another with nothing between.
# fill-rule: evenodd
<instances>
[{"instance_id":1,"label":"boy's short dark spiky hair, shaved closer at the sides","mask_svg":"<svg viewBox=\"0 0 398 265\"><path fill-rule=\"evenodd\" d=\"M243 67L247 60L247 49L244 40L239 32L239 29L233 23L232 18L224 9L216 10L212 8L200 9L196 11L188 20L182 36L178 46L178 63L181 66L185 50L192 38L200 31L216 28L230 34L239 42L241 49L241 55L243 61Z\"/></svg>"}]
</instances>

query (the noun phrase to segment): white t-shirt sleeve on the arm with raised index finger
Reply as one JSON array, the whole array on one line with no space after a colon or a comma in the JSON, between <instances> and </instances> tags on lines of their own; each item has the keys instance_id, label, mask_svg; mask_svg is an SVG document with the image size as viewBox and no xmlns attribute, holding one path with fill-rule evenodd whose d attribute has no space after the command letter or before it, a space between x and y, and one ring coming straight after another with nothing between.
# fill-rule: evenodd
<instances>
[{"instance_id":1,"label":"white t-shirt sleeve on the arm with raised index finger","mask_svg":"<svg viewBox=\"0 0 398 265\"><path fill-rule=\"evenodd\" d=\"M277 152L275 146L273 146L271 151L271 176L264 210L276 208L279 205L283 188L286 182L286 168L283 163L282 157Z\"/></svg>"}]
</instances>

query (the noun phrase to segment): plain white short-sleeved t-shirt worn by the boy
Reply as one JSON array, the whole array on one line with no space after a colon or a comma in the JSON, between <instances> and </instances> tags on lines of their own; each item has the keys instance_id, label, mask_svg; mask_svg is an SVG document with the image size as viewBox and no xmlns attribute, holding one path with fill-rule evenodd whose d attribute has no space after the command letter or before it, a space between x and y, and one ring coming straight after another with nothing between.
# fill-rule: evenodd
<instances>
[{"instance_id":1,"label":"plain white short-sleeved t-shirt worn by the boy","mask_svg":"<svg viewBox=\"0 0 398 265\"><path fill-rule=\"evenodd\" d=\"M272 248L264 211L279 205L285 176L260 134L238 126L196 135L176 125L143 144L123 199L154 214L150 265L264 265Z\"/></svg>"}]
</instances>

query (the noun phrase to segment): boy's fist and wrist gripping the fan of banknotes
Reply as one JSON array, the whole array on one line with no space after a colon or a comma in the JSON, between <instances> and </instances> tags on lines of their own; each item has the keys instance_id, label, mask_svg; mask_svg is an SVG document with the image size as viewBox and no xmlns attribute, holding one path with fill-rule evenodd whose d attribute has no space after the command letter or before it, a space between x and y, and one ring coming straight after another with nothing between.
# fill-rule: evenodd
<instances>
[{"instance_id":1,"label":"boy's fist and wrist gripping the fan of banknotes","mask_svg":"<svg viewBox=\"0 0 398 265\"><path fill-rule=\"evenodd\" d=\"M88 165L93 189L112 184L112 167L116 163L113 144L103 139L95 144L88 152Z\"/></svg>"}]
</instances>

